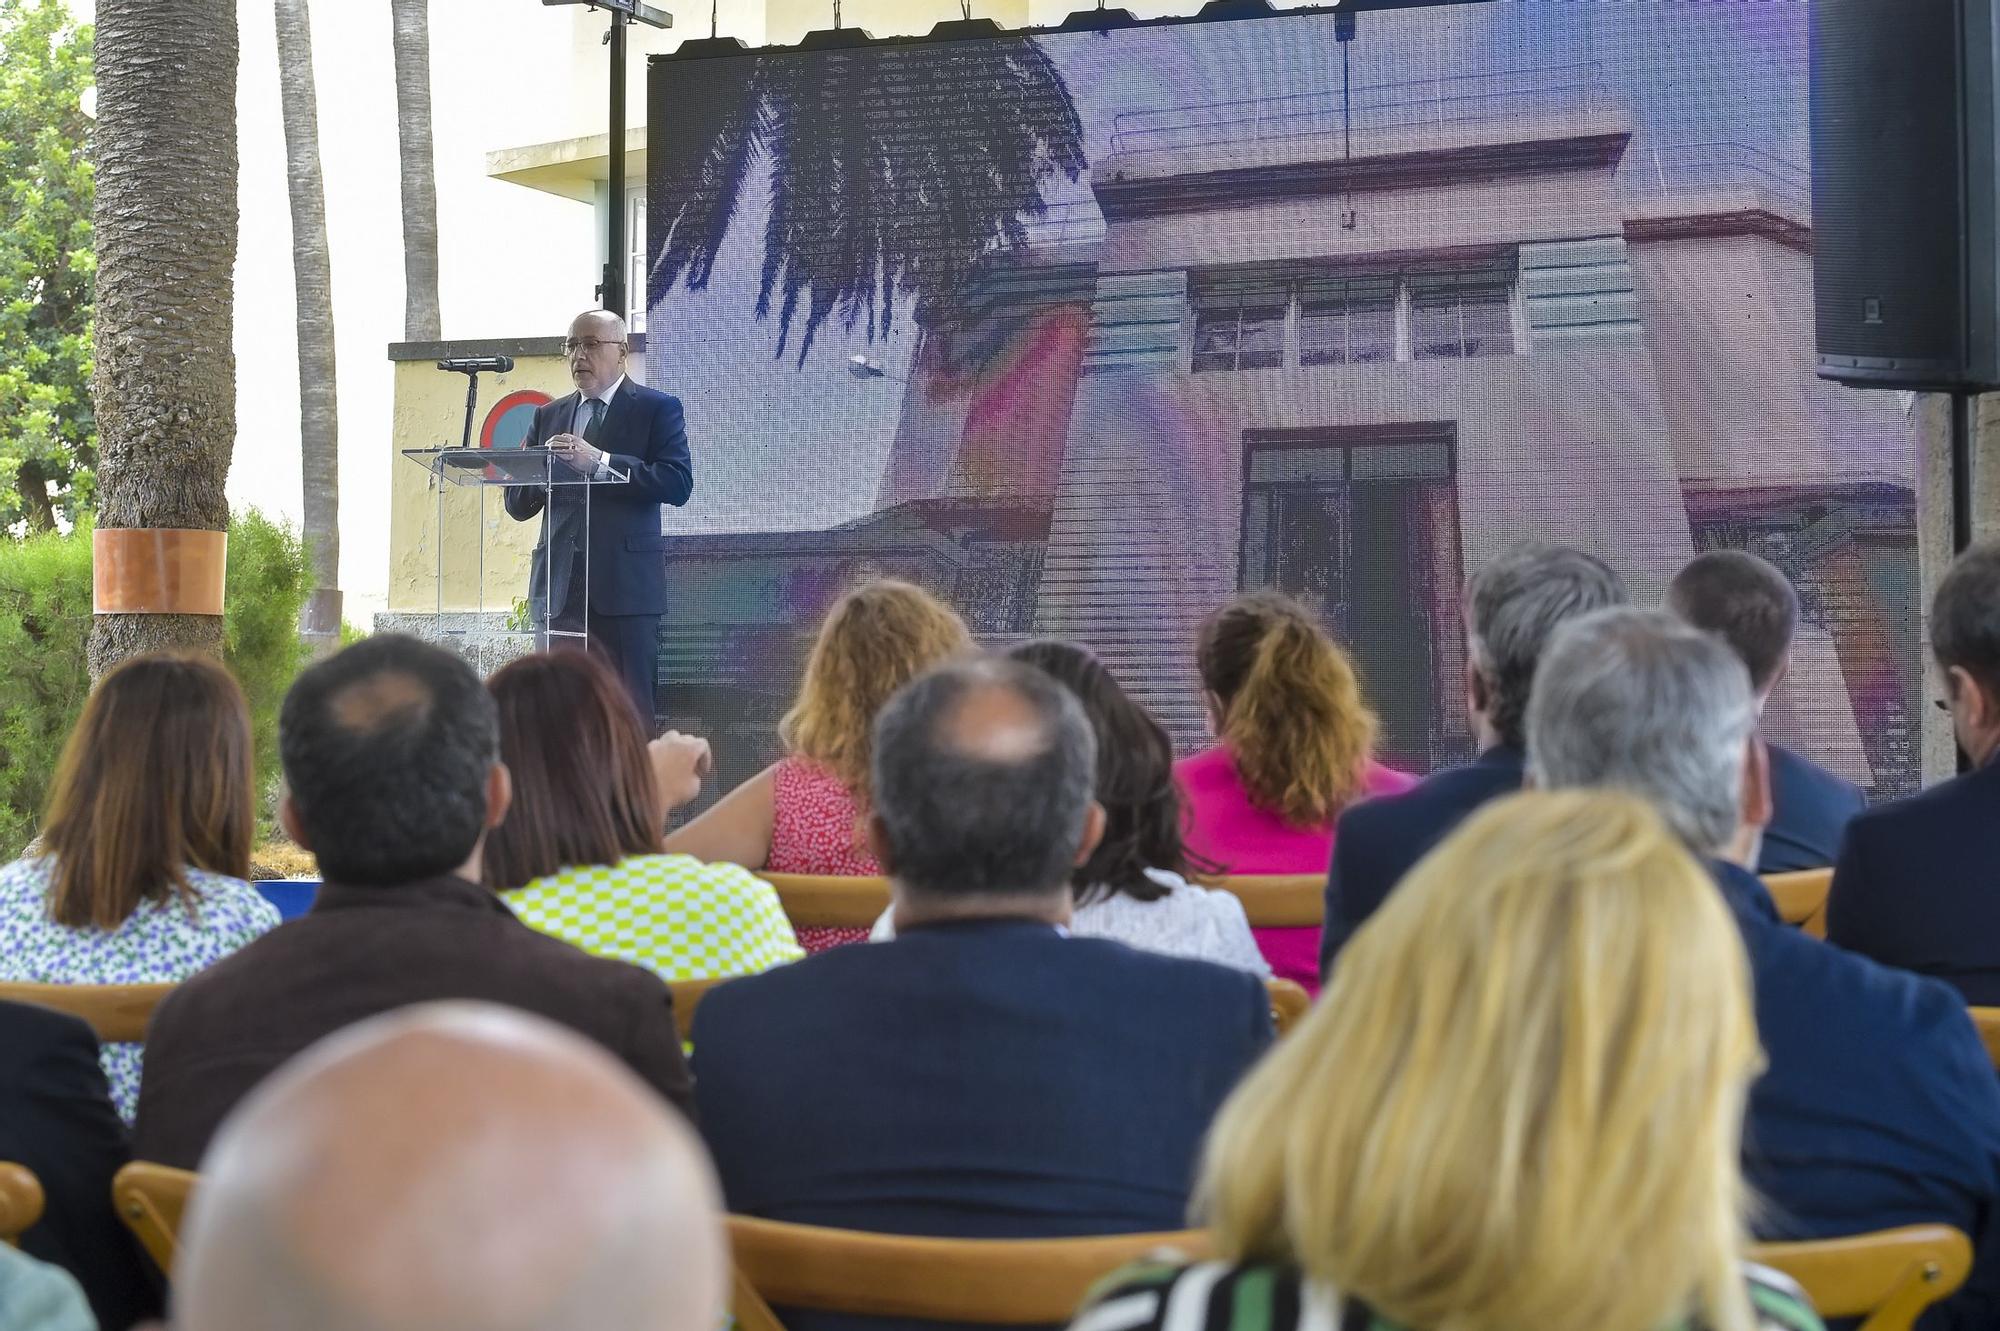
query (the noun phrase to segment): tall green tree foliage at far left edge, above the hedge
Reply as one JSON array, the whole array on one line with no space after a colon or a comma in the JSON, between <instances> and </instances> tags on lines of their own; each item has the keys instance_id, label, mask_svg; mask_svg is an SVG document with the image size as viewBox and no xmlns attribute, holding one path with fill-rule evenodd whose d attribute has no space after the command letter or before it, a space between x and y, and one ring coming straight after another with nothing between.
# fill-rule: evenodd
<instances>
[{"instance_id":1,"label":"tall green tree foliage at far left edge, above the hedge","mask_svg":"<svg viewBox=\"0 0 2000 1331\"><path fill-rule=\"evenodd\" d=\"M48 532L88 510L96 254L92 30L62 0L0 0L0 528Z\"/></svg>"}]
</instances>

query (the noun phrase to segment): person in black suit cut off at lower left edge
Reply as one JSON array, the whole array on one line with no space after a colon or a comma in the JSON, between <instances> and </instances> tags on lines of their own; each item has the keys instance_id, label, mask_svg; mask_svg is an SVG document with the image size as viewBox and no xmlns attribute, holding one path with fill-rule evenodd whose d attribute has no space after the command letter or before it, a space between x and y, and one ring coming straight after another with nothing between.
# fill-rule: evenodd
<instances>
[{"instance_id":1,"label":"person in black suit cut off at lower left edge","mask_svg":"<svg viewBox=\"0 0 2000 1331\"><path fill-rule=\"evenodd\" d=\"M42 1183L42 1219L20 1247L66 1269L106 1331L160 1315L152 1263L112 1211L130 1159L98 1065L98 1037L60 1011L0 1003L0 1159Z\"/></svg>"}]
</instances>

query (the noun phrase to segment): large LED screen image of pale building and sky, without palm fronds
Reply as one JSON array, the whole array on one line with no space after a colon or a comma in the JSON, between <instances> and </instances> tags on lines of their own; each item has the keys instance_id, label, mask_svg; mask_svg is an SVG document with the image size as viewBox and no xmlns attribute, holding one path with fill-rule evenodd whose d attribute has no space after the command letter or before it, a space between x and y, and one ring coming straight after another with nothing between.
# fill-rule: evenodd
<instances>
[{"instance_id":1,"label":"large LED screen image of pale building and sky, without palm fronds","mask_svg":"<svg viewBox=\"0 0 2000 1331\"><path fill-rule=\"evenodd\" d=\"M1468 570L1568 542L1658 602L1732 546L1804 600L1772 733L1914 787L1914 424L1812 374L1804 6L1356 18L1026 38L1074 106L1074 180L1064 122L1024 112L1048 122L1042 206L946 286L898 290L886 326L838 254L778 254L820 298L846 282L804 354L812 286L788 328L784 270L756 308L776 176L796 210L810 164L762 148L706 282L648 316L648 380L708 446L668 554L670 715L764 731L802 626L888 572L988 642L1090 644L1192 747L1198 624L1282 588L1356 656L1384 757L1430 769L1472 747ZM652 122L790 78L836 120L874 100L848 128L894 170L880 106L922 106L928 66L870 60L672 62ZM698 224L664 190L656 266ZM890 206L844 190L830 210ZM898 224L940 246L962 226Z\"/></svg>"}]
</instances>

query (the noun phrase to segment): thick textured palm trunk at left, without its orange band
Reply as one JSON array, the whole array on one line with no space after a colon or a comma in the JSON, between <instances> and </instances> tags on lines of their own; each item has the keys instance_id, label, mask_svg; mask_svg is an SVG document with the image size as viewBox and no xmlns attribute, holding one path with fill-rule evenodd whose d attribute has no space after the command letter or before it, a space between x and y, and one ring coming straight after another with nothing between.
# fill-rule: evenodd
<instances>
[{"instance_id":1,"label":"thick textured palm trunk at left, without its orange band","mask_svg":"<svg viewBox=\"0 0 2000 1331\"><path fill-rule=\"evenodd\" d=\"M228 530L236 6L98 0L98 526ZM218 616L98 616L90 669L222 654Z\"/></svg>"}]
</instances>

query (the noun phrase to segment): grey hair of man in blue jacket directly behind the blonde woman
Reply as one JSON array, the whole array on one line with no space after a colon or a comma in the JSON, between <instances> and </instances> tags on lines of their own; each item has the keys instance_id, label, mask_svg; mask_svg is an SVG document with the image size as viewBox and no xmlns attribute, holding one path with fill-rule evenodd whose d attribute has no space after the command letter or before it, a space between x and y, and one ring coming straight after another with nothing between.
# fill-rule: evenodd
<instances>
[{"instance_id":1,"label":"grey hair of man in blue jacket directly behind the blonde woman","mask_svg":"<svg viewBox=\"0 0 2000 1331\"><path fill-rule=\"evenodd\" d=\"M1750 671L1726 642L1664 610L1600 610L1556 630L1542 658L1528 775L1642 795L1690 849L1716 855L1742 817L1752 731Z\"/></svg>"}]
</instances>

